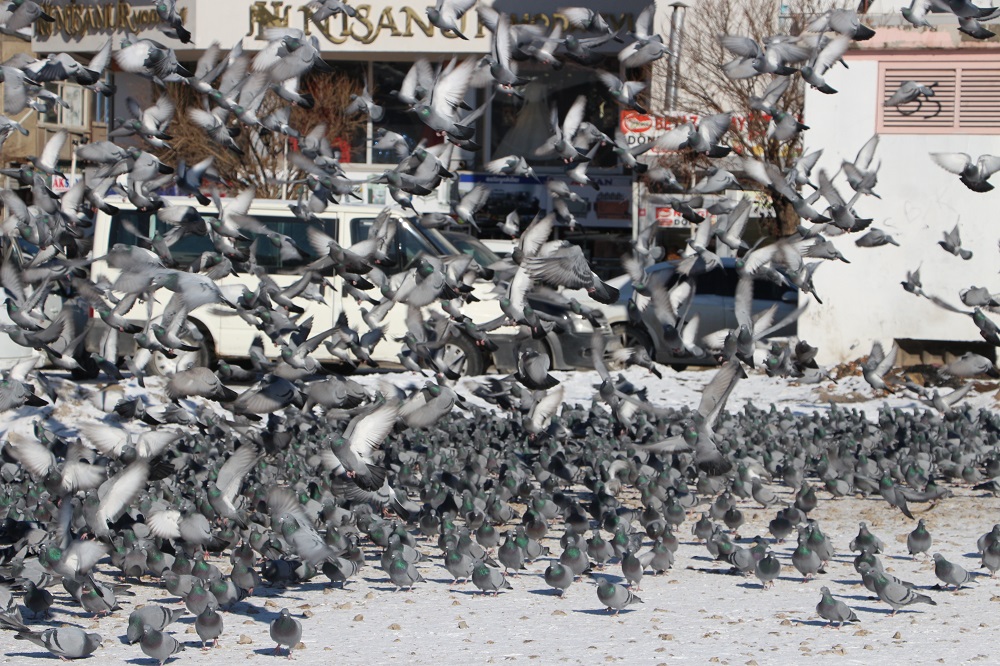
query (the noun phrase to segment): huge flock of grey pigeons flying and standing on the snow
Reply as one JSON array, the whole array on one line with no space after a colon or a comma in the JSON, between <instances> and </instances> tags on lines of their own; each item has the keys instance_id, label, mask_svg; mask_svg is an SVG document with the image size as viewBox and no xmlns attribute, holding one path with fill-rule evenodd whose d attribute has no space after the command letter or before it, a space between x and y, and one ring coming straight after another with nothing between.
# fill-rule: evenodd
<instances>
[{"instance_id":1,"label":"huge flock of grey pigeons flying and standing on the snow","mask_svg":"<svg viewBox=\"0 0 1000 666\"><path fill-rule=\"evenodd\" d=\"M474 4L440 0L428 9L428 16L442 29L456 30L461 15ZM904 16L922 25L927 11L940 10L939 4L914 2ZM985 31L978 21L993 11L967 2L943 7L959 17L963 30L977 37ZM338 0L315 0L310 9L315 20L353 11ZM30 35L34 21L47 20L32 0L14 2L6 11L0 22L8 34ZM157 11L166 34L182 42L190 39L172 2L159 3ZM548 31L513 25L508 16L485 6L477 11L492 33L490 53L438 67L418 60L397 92L444 141L413 147L387 129L378 133L379 147L394 149L400 157L397 167L378 178L404 209L415 212L414 196L454 177L450 165L455 146L475 149L472 123L485 107L467 107L470 87L517 95L526 82L517 73L519 61L556 67L565 58L595 67L604 57L594 49L621 44L619 72L597 70L595 78L623 107L641 110L637 95L644 85L627 81L627 75L667 53L652 25L652 7L637 18L633 31L618 32L588 9L561 10L573 27L588 35L584 37L563 35L558 24ZM772 76L761 97L754 99L753 109L771 115L770 136L795 141L805 128L780 112L777 104L796 74L808 85L834 93L823 75L853 40L872 34L854 12L831 10L811 23L807 34L775 36L763 45L746 37L723 36L722 44L737 56L724 68L732 77ZM309 131L291 127L288 105L258 116L268 96L309 108L313 100L299 93L299 80L312 70L329 69L314 37L272 29L268 38L271 41L252 59L239 46L225 57L218 47L210 48L194 73L185 70L170 48L134 36L114 51L109 41L86 65L65 54L44 60L18 56L2 66L4 110L11 116L28 107L42 112L62 103L40 85L46 81L72 80L107 94L104 71L112 57L123 70L157 84L185 82L203 103L189 111L191 118L209 139L229 149L239 150L233 140L237 128L256 137L254 141L267 132L300 138L299 151L291 160L306 176L303 195L292 209L309 224L329 204L351 196L356 183L337 163L324 127ZM791 67L797 63L806 64L800 70ZM917 82L904 88L893 98L894 104L912 103L930 90ZM625 164L638 167L642 163L637 158L652 146L629 149L617 143L586 122L585 108L585 98L574 101L561 121L553 109L552 137L536 155L508 156L489 165L491 171L509 174L532 174L530 161L539 156L559 156L567 165L567 180L552 178L548 183L554 210L523 232L518 220L509 219L505 228L517 236L516 249L508 263L491 267L503 294L503 322L521 325L526 336L544 337L554 325L527 304L532 290L584 289L605 303L618 296L591 270L578 247L549 237L558 221L571 221L568 208L559 203L575 196L570 182L590 182L586 165L597 150L614 144ZM141 142L137 145L151 149L169 147L167 130L175 105L168 95L150 108L130 103L129 109L133 117L119 119L113 137L136 137ZM367 90L349 111L369 114L375 122L383 113ZM730 151L724 143L730 122L730 114L705 117L697 125L667 132L654 145L715 159ZM4 137L24 131L10 118L0 120L0 127ZM70 625L39 629L54 605L78 604L96 615L115 613L129 595L130 581L144 585L152 580L183 600L207 644L218 639L224 623L245 608L242 600L258 586L296 585L320 576L347 584L373 559L372 547L381 551L380 567L398 588L423 582L427 549L419 546L430 540L436 541L440 562L456 581L471 580L484 593L498 594L510 587L505 571L518 571L525 562L549 557L543 541L555 543L550 536L555 532L561 535L561 554L550 557L545 583L562 593L594 567L618 560L628 586L605 576L596 588L599 603L617 612L641 601L635 591L647 571L673 566L678 528L699 505L709 508L694 522L692 532L710 554L770 587L783 567L791 565L802 576L813 577L823 573L824 564L835 554L819 522L809 518L818 504L818 491L833 497L881 496L892 510L912 518L909 505L949 495L936 478L1000 490L996 448L1000 418L985 410L956 409L968 387L941 396L915 384L904 385L920 392L934 411L910 414L884 409L874 421L836 408L825 415L806 416L752 407L739 414L724 410L733 386L746 376L746 366L754 366L756 343L773 324L773 312L758 316L751 312L756 281L794 284L813 293L811 276L819 262L843 260L826 236L867 229L859 245L893 242L869 228L871 220L854 210L862 196L874 194L877 137L843 165L853 191L849 199L822 171L813 184L811 171L818 153L803 156L787 171L743 159L751 180L789 200L811 223L793 236L747 247L741 236L750 214L748 201L723 200L712 210L715 221L694 220L698 230L678 268L683 277L669 287L647 272L663 256L655 243L655 229L643 230L633 243L632 252L623 259L634 287L628 304L632 325L660 338L677 356L693 355L696 348L705 347L719 358L720 368L697 409L655 406L641 387L613 377L604 361L606 341L598 334L594 358L601 383L593 405L564 405L562 386L548 374L544 355L527 350L517 373L488 379L476 389L479 397L496 405L495 410L475 407L460 397L451 386L454 377L437 357L442 340L450 335L470 335L484 347L489 345L488 328L461 314L469 274L477 269L466 264L453 274L437 258L424 257L401 279L386 276L379 265L393 234L388 212L368 241L350 248L318 229L310 232L315 261L304 268L304 286L293 293L277 287L256 265L256 246L245 254L234 241L252 233L257 236L255 243L273 243L290 257L309 253L247 215L253 189L225 206L214 190L206 195L201 188L212 179L211 159L186 167L161 162L143 148L110 141L80 146L78 159L93 166L87 178L56 195L46 186L45 176L59 173L65 141L65 132L55 134L30 165L4 172L30 188L32 195L29 205L12 190L0 193L6 211L0 282L13 322L4 331L11 339L45 352L59 367L74 369L92 362L114 381L141 384L140 355L182 349L178 332L188 313L215 306L233 308L258 326L281 348L281 358L276 362L260 358L251 371L225 363L218 372L178 371L166 382L170 401L161 404L152 394L125 398L118 385L111 385L98 393L107 416L66 423L50 413L34 422L32 432L6 433L0 466L0 497L6 511L0 529L0 572L5 581L0 586L0 624L14 630L16 638L57 656L87 656L102 637ZM937 160L960 171L963 182L978 191L988 189L986 179L996 170L985 158L977 164L955 156ZM676 182L662 167L643 165L637 170L648 178ZM717 193L736 182L734 174L712 167L695 191ZM202 216L191 206L168 204L157 194L167 184L205 205L214 199L218 218ZM802 193L807 187L811 194ZM145 238L148 248L114 247L106 259L121 270L121 276L112 284L100 284L90 281L84 270L93 261L85 229L92 209L115 212L107 201L112 189L121 190L141 210L157 210L171 228ZM828 206L818 210L814 205L821 197ZM484 201L485 192L473 190L455 203L456 217L473 223ZM691 206L683 212L696 216ZM427 224L444 223L433 215L423 217ZM216 252L206 253L195 266L178 266L170 246L188 234L208 236ZM737 264L737 326L699 336L688 310L699 277L720 266L712 249L719 244L742 253ZM962 257L967 252L961 248L957 229L946 234L942 246ZM310 337L308 322L295 317L295 299L306 297L306 287L321 282L322 269L331 266L354 290L352 294L371 304L365 319L370 331L378 330L380 318L391 307L408 308L409 359L414 367L431 369L432 381L414 390L383 385L372 394L343 377L315 378L318 368L310 363L309 354L328 338L342 340L358 360L364 359L365 336L346 322ZM260 288L247 290L239 301L228 299L215 280L232 272L253 275ZM911 275L904 287L926 296L918 274ZM67 311L51 321L42 313L47 295L57 289L88 303L107 324L100 354L82 360L74 356L68 350L76 348L83 331L74 328ZM144 326L130 322L126 315L133 307L140 300L152 303L161 289L171 292L164 314L151 317ZM992 298L973 289L962 294L966 305L976 307L973 319L984 337L1000 345L1000 329L980 309L996 307ZM424 321L424 309L439 301L450 318L447 326L439 326L440 320ZM598 316L577 301L568 301L567 306ZM275 325L276 320L284 323ZM127 360L130 378L123 375L115 353L122 332L133 334L140 349ZM776 344L765 368L781 376L821 379L826 374L816 366L815 354L804 341ZM616 350L611 356L618 363L658 372L645 349ZM876 345L863 365L864 377L875 390L895 388L885 381L894 356L895 348L885 353ZM988 360L968 355L942 372L971 377L996 371ZM252 385L237 393L225 385L229 380L249 380ZM49 378L21 366L0 382L0 408L47 405L34 383L56 400ZM774 507L780 504L777 484L795 493L792 504L777 511L769 525L778 543L797 532L790 555L760 536L749 547L737 540L744 522L737 498ZM638 494L641 506L624 500L629 489ZM930 550L932 538L922 521L907 543L914 555ZM883 547L862 524L851 544L860 552L856 560L860 581L893 612L910 604L935 603L883 568L878 558ZM1000 526L979 540L978 551L991 573L1000 569ZM222 571L209 563L208 553L227 554L231 568ZM120 581L108 577L111 570L120 573ZM968 572L941 555L935 555L935 573L956 588L970 580ZM65 590L65 595L60 591L54 595L53 587ZM838 624L857 619L827 588L817 612ZM183 613L158 604L137 609L128 618L125 639L139 643L146 655L163 663L184 647L166 631ZM294 649L301 634L301 622L287 610L270 622L270 636L279 648Z\"/></svg>"}]
</instances>

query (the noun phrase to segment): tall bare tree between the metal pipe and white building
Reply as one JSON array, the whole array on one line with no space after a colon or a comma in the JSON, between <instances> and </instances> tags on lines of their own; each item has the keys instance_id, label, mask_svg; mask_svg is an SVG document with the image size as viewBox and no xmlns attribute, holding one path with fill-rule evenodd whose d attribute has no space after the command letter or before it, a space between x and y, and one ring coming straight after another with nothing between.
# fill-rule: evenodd
<instances>
[{"instance_id":1,"label":"tall bare tree between the metal pipe and white building","mask_svg":"<svg viewBox=\"0 0 1000 666\"><path fill-rule=\"evenodd\" d=\"M738 155L753 156L782 169L802 154L803 138L780 142L767 137L770 117L750 107L750 98L759 96L772 81L768 74L746 79L729 78L723 64L735 56L726 51L721 35L750 37L758 44L773 35L798 35L808 22L834 6L831 0L702 0L687 11L681 49L681 76L677 81L679 106L689 113L710 115L731 111L732 131L726 136ZM804 104L802 80L793 76L777 108L801 119ZM690 178L707 165L706 158L671 155L663 158L678 174ZM748 185L751 183L748 183ZM771 195L775 218L764 221L769 233L788 235L799 218L791 205L776 193Z\"/></svg>"}]
</instances>

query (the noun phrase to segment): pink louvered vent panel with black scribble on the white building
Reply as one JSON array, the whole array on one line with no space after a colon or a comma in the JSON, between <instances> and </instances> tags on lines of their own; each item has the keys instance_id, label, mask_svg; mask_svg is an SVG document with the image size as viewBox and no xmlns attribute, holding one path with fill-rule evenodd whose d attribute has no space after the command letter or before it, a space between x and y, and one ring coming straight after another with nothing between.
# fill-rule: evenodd
<instances>
[{"instance_id":1,"label":"pink louvered vent panel with black scribble on the white building","mask_svg":"<svg viewBox=\"0 0 1000 666\"><path fill-rule=\"evenodd\" d=\"M886 107L906 81L931 86L932 97ZM1000 134L1000 59L928 56L879 62L878 131L885 134Z\"/></svg>"}]
</instances>

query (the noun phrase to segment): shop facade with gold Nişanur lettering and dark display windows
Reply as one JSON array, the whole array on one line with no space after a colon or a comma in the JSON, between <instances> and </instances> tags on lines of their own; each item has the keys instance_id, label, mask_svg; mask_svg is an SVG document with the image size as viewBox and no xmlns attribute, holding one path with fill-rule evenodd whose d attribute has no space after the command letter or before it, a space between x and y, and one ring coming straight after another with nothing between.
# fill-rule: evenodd
<instances>
[{"instance_id":1,"label":"shop facade with gold Ni\u015fanur lettering and dark display windows","mask_svg":"<svg viewBox=\"0 0 1000 666\"><path fill-rule=\"evenodd\" d=\"M600 0L587 6L602 12L613 29L631 29L636 16L648 3L643 0ZM434 27L426 16L432 3L413 4L412 0L372 0L353 2L356 14L332 17L317 24L310 18L307 3L303 0L181 0L178 8L184 24L192 34L191 43L184 45L172 40L158 30L158 18L152 2L97 2L83 5L77 2L58 1L45 4L45 10L55 18L54 23L36 27L34 49L39 57L51 52L71 52L81 59L96 52L109 38L120 40L126 33L148 37L176 50L182 64L194 63L213 43L223 50L241 43L244 50L253 53L266 44L268 28L297 28L315 36L323 58L338 72L358 82L369 82L375 102L386 109L385 119L379 127L398 132L411 145L419 141L433 144L440 141L433 132L420 123L392 94L398 89L410 65L418 57L432 63L443 63L451 58L477 57L490 49L490 33L479 23L476 12L468 12L462 19L462 32L468 39L461 39L450 31ZM525 0L498 0L494 8L511 15L514 23L534 23L547 29L557 24L565 32L573 31L565 17L559 13L561 2L527 2ZM666 11L666 8L664 8ZM669 28L669 19L658 17L655 25ZM118 44L115 44L117 48ZM617 48L621 48L618 44ZM492 222L502 222L510 210L516 208L525 223L538 210L548 210L550 202L544 182L549 177L563 177L566 166L558 159L540 159L530 154L549 134L549 110L556 107L560 117L578 95L588 99L586 119L609 136L615 136L620 120L620 107L597 81L593 68L565 61L559 69L537 63L519 63L519 75L529 79L523 87L523 97L498 94L493 97L483 118L477 123L476 141L479 151L454 151L452 165L460 173L456 191L439 190L417 203L421 212L446 210L448 201L477 183L486 183L491 189L491 199L486 207L487 223L484 234L492 235ZM617 71L615 50L609 49L604 69ZM110 104L96 99L89 91L73 90L64 84L60 92L69 96L72 110L63 110L65 122L79 123L80 127L107 123L125 113L125 99L133 97L141 104L152 103L159 94L153 84L141 77L115 71L117 93ZM647 74L648 76L648 74ZM662 95L662 85L653 86L655 95ZM470 91L467 103L477 107L487 102L488 87ZM73 125L74 127L77 125ZM309 128L300 128L307 131ZM384 186L367 183L367 179L381 173L396 157L373 148L374 132L371 122L348 136L330 136L331 143L339 149L348 175L358 180L359 192L365 201L381 203L386 200ZM72 130L71 130L72 131ZM538 180L495 176L485 172L490 160L508 154L525 154L532 163ZM612 146L602 148L595 156L588 174L599 189L574 186L580 196L574 202L575 229L561 233L575 233L586 241L590 253L597 259L604 254L608 259L620 255L621 245L631 236L637 207L633 205L633 174L618 162ZM613 241L613 242L605 242Z\"/></svg>"}]
</instances>

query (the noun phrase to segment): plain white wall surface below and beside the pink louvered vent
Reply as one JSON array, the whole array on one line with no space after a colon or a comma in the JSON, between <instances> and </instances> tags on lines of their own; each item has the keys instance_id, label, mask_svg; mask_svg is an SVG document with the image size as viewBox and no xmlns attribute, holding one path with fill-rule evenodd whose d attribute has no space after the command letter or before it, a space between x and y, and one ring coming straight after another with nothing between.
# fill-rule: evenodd
<instances>
[{"instance_id":1,"label":"plain white wall surface below and beside the pink louvered vent","mask_svg":"<svg viewBox=\"0 0 1000 666\"><path fill-rule=\"evenodd\" d=\"M868 54L866 54L868 55ZM833 174L843 159L875 133L878 62L852 57L850 69L837 68L827 81L840 93L807 91L806 150L823 149L818 168ZM979 194L968 190L931 161L930 152L1000 155L1000 136L883 135L876 152L881 161L878 186L882 197L863 197L855 209L872 217L872 226L891 234L901 247L859 248L861 234L833 239L851 263L827 261L815 275L823 299L813 301L799 320L799 336L820 349L821 363L837 363L868 354L874 340L978 341L971 317L949 313L903 290L908 270L920 268L924 289L961 306L960 289L972 285L1000 291L1000 189ZM853 191L842 177L835 180L845 199ZM945 252L937 241L959 222L969 261Z\"/></svg>"}]
</instances>

